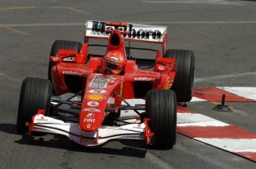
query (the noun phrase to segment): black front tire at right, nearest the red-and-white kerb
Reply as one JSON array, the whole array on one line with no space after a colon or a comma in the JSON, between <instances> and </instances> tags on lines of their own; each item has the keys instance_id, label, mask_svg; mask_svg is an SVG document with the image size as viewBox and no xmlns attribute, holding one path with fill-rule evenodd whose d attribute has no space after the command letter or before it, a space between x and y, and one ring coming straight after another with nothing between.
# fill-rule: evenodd
<instances>
[{"instance_id":1,"label":"black front tire at right, nearest the red-and-white kerb","mask_svg":"<svg viewBox=\"0 0 256 169\"><path fill-rule=\"evenodd\" d=\"M154 132L153 146L172 149L176 144L176 104L173 90L149 90L146 94L146 117Z\"/></svg>"}]
</instances>

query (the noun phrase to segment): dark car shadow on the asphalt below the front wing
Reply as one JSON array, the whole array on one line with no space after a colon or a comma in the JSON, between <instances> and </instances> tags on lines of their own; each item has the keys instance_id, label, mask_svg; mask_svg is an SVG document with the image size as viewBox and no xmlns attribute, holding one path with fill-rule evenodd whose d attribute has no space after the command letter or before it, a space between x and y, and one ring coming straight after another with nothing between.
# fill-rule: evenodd
<instances>
[{"instance_id":1,"label":"dark car shadow on the asphalt below the front wing","mask_svg":"<svg viewBox=\"0 0 256 169\"><path fill-rule=\"evenodd\" d=\"M19 135L16 132L16 125L14 124L0 124L0 131L9 134ZM20 140L15 141L16 144L25 144L31 146L44 146L51 147L55 149L67 149L71 152L87 152L87 153L101 153L101 154L112 154L112 155L120 155L127 157L138 157L144 158L146 156L146 149L135 148L124 146L121 149L114 149L104 146L97 147L84 147L79 144L75 144L70 141L69 138L66 138L62 135L53 135L53 138L47 139L45 136L29 136L29 135L20 135ZM108 144L108 143L107 143ZM139 144L139 143L138 143Z\"/></svg>"}]
</instances>

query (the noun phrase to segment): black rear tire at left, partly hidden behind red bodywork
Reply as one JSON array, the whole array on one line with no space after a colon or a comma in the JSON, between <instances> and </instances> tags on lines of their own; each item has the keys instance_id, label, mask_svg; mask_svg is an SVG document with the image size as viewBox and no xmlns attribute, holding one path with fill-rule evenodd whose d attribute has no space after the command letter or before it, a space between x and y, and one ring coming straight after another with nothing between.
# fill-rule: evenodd
<instances>
[{"instance_id":1,"label":"black rear tire at left, partly hidden behind red bodywork","mask_svg":"<svg viewBox=\"0 0 256 169\"><path fill-rule=\"evenodd\" d=\"M73 42L73 41L64 41L64 40L56 40L50 50L50 56L56 56L59 50L76 50L80 52L82 44L80 42ZM48 79L52 82L51 79L51 70L54 66L54 63L50 63L48 66Z\"/></svg>"}]
</instances>

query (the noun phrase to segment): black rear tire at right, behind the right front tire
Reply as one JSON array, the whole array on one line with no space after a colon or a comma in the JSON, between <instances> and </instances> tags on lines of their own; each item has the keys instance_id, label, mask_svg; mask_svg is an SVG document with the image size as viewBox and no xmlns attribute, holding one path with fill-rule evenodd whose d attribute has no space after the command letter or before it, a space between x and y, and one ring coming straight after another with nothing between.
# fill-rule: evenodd
<instances>
[{"instance_id":1,"label":"black rear tire at right, behind the right front tire","mask_svg":"<svg viewBox=\"0 0 256 169\"><path fill-rule=\"evenodd\" d=\"M190 50L167 50L165 58L175 58L176 76L171 87L177 95L178 102L189 102L194 91L195 56Z\"/></svg>"}]
</instances>

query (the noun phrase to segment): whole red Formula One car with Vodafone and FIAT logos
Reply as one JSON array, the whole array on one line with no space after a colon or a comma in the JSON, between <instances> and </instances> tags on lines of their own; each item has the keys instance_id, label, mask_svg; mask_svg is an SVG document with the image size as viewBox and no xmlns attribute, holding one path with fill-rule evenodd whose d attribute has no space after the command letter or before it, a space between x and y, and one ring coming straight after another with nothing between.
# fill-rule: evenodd
<instances>
[{"instance_id":1,"label":"whole red Formula One car with Vodafone and FIAT logos","mask_svg":"<svg viewBox=\"0 0 256 169\"><path fill-rule=\"evenodd\" d=\"M108 45L89 39L108 39ZM189 50L167 50L167 27L87 21L85 43L56 40L48 79L23 80L17 130L66 135L83 146L113 139L176 144L176 104L192 98L195 60ZM162 44L161 50L124 41ZM89 47L105 47L104 55ZM130 50L156 52L132 57ZM54 94L54 95L53 95Z\"/></svg>"}]
</instances>

